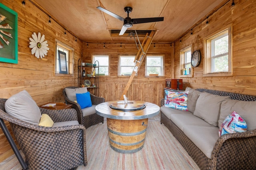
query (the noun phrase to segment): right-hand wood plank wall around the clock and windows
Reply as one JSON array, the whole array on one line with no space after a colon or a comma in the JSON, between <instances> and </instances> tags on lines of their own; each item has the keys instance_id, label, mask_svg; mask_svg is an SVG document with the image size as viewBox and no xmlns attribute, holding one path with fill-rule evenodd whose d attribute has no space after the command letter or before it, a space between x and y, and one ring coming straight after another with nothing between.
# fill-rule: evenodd
<instances>
[{"instance_id":1,"label":"right-hand wood plank wall around the clock and windows","mask_svg":"<svg viewBox=\"0 0 256 170\"><path fill-rule=\"evenodd\" d=\"M189 45L198 49L196 43L198 36L202 62L194 68L193 77L183 78L183 82L192 88L256 95L256 4L252 0L234 0L234 2L233 8L232 1L229 1L210 15L208 25L206 25L206 18L203 18L202 23L192 29L192 35L190 35L190 29L182 35L181 43L180 39L177 39L174 43L175 78L180 78L180 50ZM233 76L203 77L204 38L230 24L233 25Z\"/></svg>"}]
</instances>

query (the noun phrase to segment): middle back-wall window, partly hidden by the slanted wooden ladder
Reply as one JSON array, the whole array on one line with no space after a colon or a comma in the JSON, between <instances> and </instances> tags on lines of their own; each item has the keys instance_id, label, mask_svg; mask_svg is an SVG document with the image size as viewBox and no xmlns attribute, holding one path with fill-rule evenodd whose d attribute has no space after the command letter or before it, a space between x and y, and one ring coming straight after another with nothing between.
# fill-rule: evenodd
<instances>
[{"instance_id":1,"label":"middle back-wall window, partly hidden by the slanted wooden ladder","mask_svg":"<svg viewBox=\"0 0 256 170\"><path fill-rule=\"evenodd\" d=\"M135 56L119 56L119 75L130 76L134 70Z\"/></svg>"}]
</instances>

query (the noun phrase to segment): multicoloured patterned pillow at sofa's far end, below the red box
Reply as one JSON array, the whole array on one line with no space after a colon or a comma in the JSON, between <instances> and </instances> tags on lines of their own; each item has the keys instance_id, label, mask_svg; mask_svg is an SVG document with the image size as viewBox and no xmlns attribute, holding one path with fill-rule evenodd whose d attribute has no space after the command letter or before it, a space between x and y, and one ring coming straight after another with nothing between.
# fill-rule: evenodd
<instances>
[{"instance_id":1,"label":"multicoloured patterned pillow at sofa's far end, below the red box","mask_svg":"<svg viewBox=\"0 0 256 170\"><path fill-rule=\"evenodd\" d=\"M173 109L188 111L187 100L188 92L170 92L169 90L164 90L164 106Z\"/></svg>"}]
</instances>

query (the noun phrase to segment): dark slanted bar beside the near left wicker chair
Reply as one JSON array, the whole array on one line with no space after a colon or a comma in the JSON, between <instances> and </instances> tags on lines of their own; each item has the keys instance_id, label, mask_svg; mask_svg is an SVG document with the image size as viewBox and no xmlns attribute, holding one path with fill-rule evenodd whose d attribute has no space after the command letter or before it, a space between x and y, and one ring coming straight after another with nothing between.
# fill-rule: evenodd
<instances>
[{"instance_id":1,"label":"dark slanted bar beside the near left wicker chair","mask_svg":"<svg viewBox=\"0 0 256 170\"><path fill-rule=\"evenodd\" d=\"M14 143L12 136L10 134L10 132L8 131L6 125L4 124L3 119L0 118L0 125L2 128L2 131L4 132L4 135L6 136L8 142L10 143L12 150L14 151L14 154L16 155L16 157L18 158L18 161L20 162L20 165L22 166L23 170L27 170L28 166L26 165L25 161L23 160L16 144Z\"/></svg>"}]
</instances>

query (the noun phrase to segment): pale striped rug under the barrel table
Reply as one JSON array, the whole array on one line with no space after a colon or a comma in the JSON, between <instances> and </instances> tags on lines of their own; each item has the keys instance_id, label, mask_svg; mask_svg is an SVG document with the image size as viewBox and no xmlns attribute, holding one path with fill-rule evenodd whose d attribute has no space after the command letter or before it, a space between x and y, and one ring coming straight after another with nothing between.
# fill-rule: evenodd
<instances>
[{"instance_id":1,"label":"pale striped rug under the barrel table","mask_svg":"<svg viewBox=\"0 0 256 170\"><path fill-rule=\"evenodd\" d=\"M106 119L86 129L87 166L77 170L199 170L198 166L160 121L148 121L142 150L131 154L110 148ZM23 155L23 154L22 154ZM0 170L21 170L15 156Z\"/></svg>"}]
</instances>

